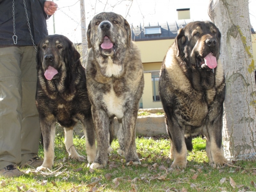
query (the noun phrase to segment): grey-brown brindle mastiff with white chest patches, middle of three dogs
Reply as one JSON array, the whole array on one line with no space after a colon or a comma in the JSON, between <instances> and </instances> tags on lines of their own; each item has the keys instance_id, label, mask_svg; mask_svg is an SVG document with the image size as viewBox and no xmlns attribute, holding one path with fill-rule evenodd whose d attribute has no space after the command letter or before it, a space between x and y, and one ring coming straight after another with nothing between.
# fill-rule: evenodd
<instances>
[{"instance_id":1,"label":"grey-brown brindle mastiff with white chest patches, middle of three dogs","mask_svg":"<svg viewBox=\"0 0 256 192\"><path fill-rule=\"evenodd\" d=\"M87 29L87 89L96 129L97 152L91 169L108 161L109 127L119 121L119 154L126 163L140 164L135 145L135 125L143 93L140 51L131 41L129 23L113 12L94 16Z\"/></svg>"}]
</instances>

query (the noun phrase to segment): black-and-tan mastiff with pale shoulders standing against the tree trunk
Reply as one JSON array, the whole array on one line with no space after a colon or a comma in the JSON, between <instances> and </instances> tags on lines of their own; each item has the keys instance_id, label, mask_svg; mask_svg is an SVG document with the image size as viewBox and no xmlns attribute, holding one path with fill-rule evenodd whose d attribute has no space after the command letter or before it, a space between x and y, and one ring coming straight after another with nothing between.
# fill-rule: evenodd
<instances>
[{"instance_id":1,"label":"black-and-tan mastiff with pale shoulders standing against the tree trunk","mask_svg":"<svg viewBox=\"0 0 256 192\"><path fill-rule=\"evenodd\" d=\"M211 163L227 162L221 144L225 79L218 61L220 42L213 23L192 22L178 31L164 58L159 90L172 167L186 167L187 149L192 150L192 137L198 134L206 137Z\"/></svg>"}]
</instances>

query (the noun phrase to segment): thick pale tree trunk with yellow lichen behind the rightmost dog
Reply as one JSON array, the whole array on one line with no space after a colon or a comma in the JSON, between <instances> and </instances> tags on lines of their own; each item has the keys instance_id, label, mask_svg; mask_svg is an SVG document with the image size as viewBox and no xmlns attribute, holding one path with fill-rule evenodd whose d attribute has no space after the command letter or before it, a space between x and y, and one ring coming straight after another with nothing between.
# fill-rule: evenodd
<instances>
[{"instance_id":1,"label":"thick pale tree trunk with yellow lichen behind the rightmost dog","mask_svg":"<svg viewBox=\"0 0 256 192\"><path fill-rule=\"evenodd\" d=\"M256 85L248 0L210 0L208 11L222 35L219 59L226 78L224 153L231 160L255 160Z\"/></svg>"}]
</instances>

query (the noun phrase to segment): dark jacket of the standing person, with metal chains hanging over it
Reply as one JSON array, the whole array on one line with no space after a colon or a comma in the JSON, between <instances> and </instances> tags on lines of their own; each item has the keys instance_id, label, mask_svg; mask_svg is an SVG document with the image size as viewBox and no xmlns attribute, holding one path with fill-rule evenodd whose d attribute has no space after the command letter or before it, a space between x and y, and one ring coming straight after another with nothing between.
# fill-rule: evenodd
<instances>
[{"instance_id":1,"label":"dark jacket of the standing person, with metal chains hanging over it","mask_svg":"<svg viewBox=\"0 0 256 192\"><path fill-rule=\"evenodd\" d=\"M44 12L45 0L25 0L33 40L38 42L48 35ZM0 46L15 45L12 39L13 11L12 0L0 0ZM17 35L16 46L33 45L29 33L23 0L15 0L15 31Z\"/></svg>"}]
</instances>

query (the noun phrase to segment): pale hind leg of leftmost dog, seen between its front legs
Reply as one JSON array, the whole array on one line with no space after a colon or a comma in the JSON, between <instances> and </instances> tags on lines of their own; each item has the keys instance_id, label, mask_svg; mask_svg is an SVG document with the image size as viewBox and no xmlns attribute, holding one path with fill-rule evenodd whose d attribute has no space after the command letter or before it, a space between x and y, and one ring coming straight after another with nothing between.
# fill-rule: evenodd
<instances>
[{"instance_id":1,"label":"pale hind leg of leftmost dog, seen between its front legs","mask_svg":"<svg viewBox=\"0 0 256 192\"><path fill-rule=\"evenodd\" d=\"M79 155L76 151L76 148L73 143L73 128L64 128L65 133L65 145L68 152L68 155L72 159L76 159L78 161L85 161L85 158Z\"/></svg>"}]
</instances>

